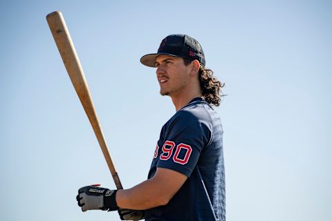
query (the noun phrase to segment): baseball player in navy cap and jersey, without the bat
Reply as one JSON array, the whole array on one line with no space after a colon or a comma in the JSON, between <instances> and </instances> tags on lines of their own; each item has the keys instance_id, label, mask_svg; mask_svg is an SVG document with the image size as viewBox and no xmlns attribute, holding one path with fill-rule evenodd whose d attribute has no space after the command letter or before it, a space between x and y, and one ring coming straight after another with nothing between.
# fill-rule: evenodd
<instances>
[{"instance_id":1,"label":"baseball player in navy cap and jersey, without the bat","mask_svg":"<svg viewBox=\"0 0 332 221\"><path fill-rule=\"evenodd\" d=\"M84 186L82 211L118 211L121 220L225 220L221 82L205 68L203 49L187 35L169 35L140 59L156 67L160 94L176 113L163 126L148 179L131 189Z\"/></svg>"}]
</instances>

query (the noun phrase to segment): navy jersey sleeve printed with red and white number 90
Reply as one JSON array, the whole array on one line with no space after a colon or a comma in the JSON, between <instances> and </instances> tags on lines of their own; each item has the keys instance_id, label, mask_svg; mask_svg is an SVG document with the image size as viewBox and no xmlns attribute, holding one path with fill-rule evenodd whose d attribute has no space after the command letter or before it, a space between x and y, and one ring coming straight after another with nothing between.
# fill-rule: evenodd
<instances>
[{"instance_id":1,"label":"navy jersey sleeve printed with red and white number 90","mask_svg":"<svg viewBox=\"0 0 332 221\"><path fill-rule=\"evenodd\" d=\"M178 111L160 143L157 167L172 169L190 177L203 147L210 142L211 128L201 114Z\"/></svg>"}]
</instances>

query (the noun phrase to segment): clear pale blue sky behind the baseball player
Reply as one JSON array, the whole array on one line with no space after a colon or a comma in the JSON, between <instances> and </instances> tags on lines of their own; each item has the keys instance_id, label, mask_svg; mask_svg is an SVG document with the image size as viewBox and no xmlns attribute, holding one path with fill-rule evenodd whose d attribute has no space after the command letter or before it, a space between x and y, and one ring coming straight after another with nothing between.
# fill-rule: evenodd
<instances>
[{"instance_id":1,"label":"clear pale blue sky behind the baseball player","mask_svg":"<svg viewBox=\"0 0 332 221\"><path fill-rule=\"evenodd\" d=\"M1 1L0 220L119 220L77 206L115 185L46 22L62 11L124 188L175 113L142 55L199 40L225 82L228 221L332 220L332 1Z\"/></svg>"}]
</instances>

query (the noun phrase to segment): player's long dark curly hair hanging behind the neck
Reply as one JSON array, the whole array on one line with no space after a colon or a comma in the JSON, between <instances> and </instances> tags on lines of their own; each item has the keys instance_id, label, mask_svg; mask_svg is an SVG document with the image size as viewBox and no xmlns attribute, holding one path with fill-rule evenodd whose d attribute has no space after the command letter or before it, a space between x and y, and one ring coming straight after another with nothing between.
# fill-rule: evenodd
<instances>
[{"instance_id":1,"label":"player's long dark curly hair hanging behind the neck","mask_svg":"<svg viewBox=\"0 0 332 221\"><path fill-rule=\"evenodd\" d=\"M190 59L183 59L185 66L188 66L192 61ZM211 69L199 66L199 84L201 92L206 102L211 105L219 106L221 104L221 97L223 95L221 88L225 84L221 83L214 75Z\"/></svg>"}]
</instances>

